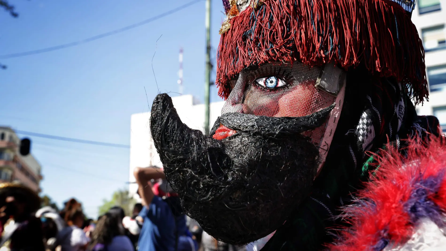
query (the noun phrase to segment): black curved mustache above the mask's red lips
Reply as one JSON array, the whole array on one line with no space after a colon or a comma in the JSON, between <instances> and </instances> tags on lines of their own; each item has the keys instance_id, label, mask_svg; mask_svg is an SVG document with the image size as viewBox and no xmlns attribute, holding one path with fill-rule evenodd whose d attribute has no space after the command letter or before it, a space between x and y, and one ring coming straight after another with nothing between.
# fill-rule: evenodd
<instances>
[{"instance_id":1,"label":"black curved mustache above the mask's red lips","mask_svg":"<svg viewBox=\"0 0 446 251\"><path fill-rule=\"evenodd\" d=\"M215 121L211 135L222 124L237 132L258 132L266 137L278 138L313 130L326 121L335 104L303 117L266 117L242 113L225 113Z\"/></svg>"}]
</instances>

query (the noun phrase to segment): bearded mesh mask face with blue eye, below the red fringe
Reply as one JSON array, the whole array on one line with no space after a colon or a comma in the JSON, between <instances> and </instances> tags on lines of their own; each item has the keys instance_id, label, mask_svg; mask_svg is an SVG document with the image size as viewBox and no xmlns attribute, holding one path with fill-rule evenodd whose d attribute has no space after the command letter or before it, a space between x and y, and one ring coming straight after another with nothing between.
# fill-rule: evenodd
<instances>
[{"instance_id":1,"label":"bearded mesh mask face with blue eye, below the red fringe","mask_svg":"<svg viewBox=\"0 0 446 251\"><path fill-rule=\"evenodd\" d=\"M325 161L343 76L334 64L248 67L209 136L183 124L170 97L158 95L151 133L186 213L226 243L246 244L279 228Z\"/></svg>"}]
</instances>

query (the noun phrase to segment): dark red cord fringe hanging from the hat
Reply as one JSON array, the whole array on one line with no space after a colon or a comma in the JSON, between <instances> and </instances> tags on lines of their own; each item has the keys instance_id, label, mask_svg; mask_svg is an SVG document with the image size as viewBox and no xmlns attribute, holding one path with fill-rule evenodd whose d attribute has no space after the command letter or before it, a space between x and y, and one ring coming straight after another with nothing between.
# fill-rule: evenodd
<instances>
[{"instance_id":1,"label":"dark red cord fringe hanging from the hat","mask_svg":"<svg viewBox=\"0 0 446 251\"><path fill-rule=\"evenodd\" d=\"M231 19L217 54L219 95L241 70L266 62L360 63L372 75L407 84L416 103L428 97L424 49L406 11L391 0L264 0Z\"/></svg>"}]
</instances>

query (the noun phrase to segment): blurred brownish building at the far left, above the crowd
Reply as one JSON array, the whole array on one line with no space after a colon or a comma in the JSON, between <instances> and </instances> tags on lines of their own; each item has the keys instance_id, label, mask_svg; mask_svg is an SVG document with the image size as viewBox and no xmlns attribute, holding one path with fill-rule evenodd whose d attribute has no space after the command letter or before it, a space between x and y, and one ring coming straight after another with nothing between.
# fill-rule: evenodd
<instances>
[{"instance_id":1,"label":"blurred brownish building at the far left, above the crowd","mask_svg":"<svg viewBox=\"0 0 446 251\"><path fill-rule=\"evenodd\" d=\"M0 183L19 181L40 192L41 166L33 155L20 154L20 144L14 130L0 126Z\"/></svg>"}]
</instances>

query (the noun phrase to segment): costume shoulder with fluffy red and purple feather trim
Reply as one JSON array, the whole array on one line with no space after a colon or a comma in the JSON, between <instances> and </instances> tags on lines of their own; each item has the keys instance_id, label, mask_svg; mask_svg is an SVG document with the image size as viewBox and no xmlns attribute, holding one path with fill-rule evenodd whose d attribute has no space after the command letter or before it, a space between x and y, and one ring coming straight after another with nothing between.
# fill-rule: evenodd
<instances>
[{"instance_id":1,"label":"costume shoulder with fluffy red and purple feather trim","mask_svg":"<svg viewBox=\"0 0 446 251\"><path fill-rule=\"evenodd\" d=\"M446 144L408 140L399 152L388 145L377 170L344 208L351 227L339 231L331 251L440 250L445 247ZM418 249L421 248L421 249ZM437 249L436 249L437 248Z\"/></svg>"}]
</instances>

